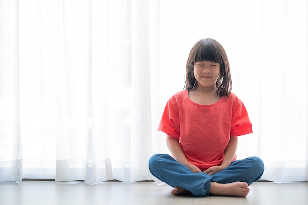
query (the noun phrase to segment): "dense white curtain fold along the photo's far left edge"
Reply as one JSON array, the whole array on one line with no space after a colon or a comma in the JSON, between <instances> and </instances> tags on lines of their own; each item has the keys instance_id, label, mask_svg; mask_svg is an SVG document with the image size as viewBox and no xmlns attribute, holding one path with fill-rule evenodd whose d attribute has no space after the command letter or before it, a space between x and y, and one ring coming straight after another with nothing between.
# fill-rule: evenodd
<instances>
[{"instance_id":1,"label":"dense white curtain fold along the photo's far left edge","mask_svg":"<svg viewBox=\"0 0 308 205\"><path fill-rule=\"evenodd\" d=\"M20 181L18 0L0 1L0 182Z\"/></svg>"}]
</instances>

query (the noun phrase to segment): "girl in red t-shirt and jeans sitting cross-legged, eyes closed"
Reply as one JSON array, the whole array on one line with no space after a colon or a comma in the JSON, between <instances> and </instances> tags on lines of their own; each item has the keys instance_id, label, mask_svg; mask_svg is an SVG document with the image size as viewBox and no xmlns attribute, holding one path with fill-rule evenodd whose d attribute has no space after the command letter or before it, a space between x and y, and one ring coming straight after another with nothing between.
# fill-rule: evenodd
<instances>
[{"instance_id":1,"label":"girl in red t-shirt and jeans sitting cross-legged, eyes closed","mask_svg":"<svg viewBox=\"0 0 308 205\"><path fill-rule=\"evenodd\" d=\"M199 40L186 65L186 90L172 96L158 130L172 154L154 154L153 176L174 187L173 195L246 197L261 178L260 158L236 160L237 136L252 133L242 101L231 92L225 50L214 39Z\"/></svg>"}]
</instances>

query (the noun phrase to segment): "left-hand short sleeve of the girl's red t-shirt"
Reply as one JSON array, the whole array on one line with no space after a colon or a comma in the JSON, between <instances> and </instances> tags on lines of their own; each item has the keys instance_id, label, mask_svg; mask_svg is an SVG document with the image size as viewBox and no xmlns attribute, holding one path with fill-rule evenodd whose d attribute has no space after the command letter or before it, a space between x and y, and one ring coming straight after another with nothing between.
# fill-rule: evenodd
<instances>
[{"instance_id":1,"label":"left-hand short sleeve of the girl's red t-shirt","mask_svg":"<svg viewBox=\"0 0 308 205\"><path fill-rule=\"evenodd\" d=\"M158 130L166 133L171 138L177 140L180 138L179 108L177 103L172 103L171 99L168 100L164 109Z\"/></svg>"}]
</instances>

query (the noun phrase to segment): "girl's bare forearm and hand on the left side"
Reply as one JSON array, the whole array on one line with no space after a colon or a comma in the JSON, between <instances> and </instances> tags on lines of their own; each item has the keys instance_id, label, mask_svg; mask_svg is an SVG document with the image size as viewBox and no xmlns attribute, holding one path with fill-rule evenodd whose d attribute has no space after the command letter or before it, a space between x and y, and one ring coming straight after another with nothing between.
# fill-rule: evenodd
<instances>
[{"instance_id":1,"label":"girl's bare forearm and hand on the left side","mask_svg":"<svg viewBox=\"0 0 308 205\"><path fill-rule=\"evenodd\" d=\"M192 172L197 173L201 172L201 170L188 162L178 140L171 138L167 135L167 147L169 148L172 156L181 164L187 166Z\"/></svg>"}]
</instances>

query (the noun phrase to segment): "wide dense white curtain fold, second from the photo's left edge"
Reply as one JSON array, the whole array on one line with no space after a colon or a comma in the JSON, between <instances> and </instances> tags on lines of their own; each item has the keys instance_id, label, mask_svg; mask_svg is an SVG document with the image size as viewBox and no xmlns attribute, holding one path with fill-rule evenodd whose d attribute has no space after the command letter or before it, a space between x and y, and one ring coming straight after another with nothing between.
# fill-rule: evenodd
<instances>
[{"instance_id":1,"label":"wide dense white curtain fold, second from the photo's left edge","mask_svg":"<svg viewBox=\"0 0 308 205\"><path fill-rule=\"evenodd\" d=\"M84 179L90 116L90 1L59 1L56 181ZM63 38L63 39L61 39ZM61 43L63 42L63 44ZM91 128L91 127L90 127Z\"/></svg>"}]
</instances>

